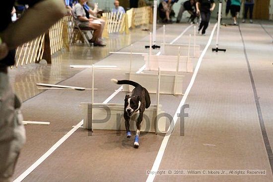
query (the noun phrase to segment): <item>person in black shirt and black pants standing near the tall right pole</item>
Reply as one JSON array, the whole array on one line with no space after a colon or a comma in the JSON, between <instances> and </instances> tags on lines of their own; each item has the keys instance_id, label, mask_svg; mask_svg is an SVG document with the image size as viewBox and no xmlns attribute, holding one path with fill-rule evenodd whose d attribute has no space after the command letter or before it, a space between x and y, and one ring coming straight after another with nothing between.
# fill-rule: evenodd
<instances>
[{"instance_id":1,"label":"person in black shirt and black pants standing near the tall right pole","mask_svg":"<svg viewBox=\"0 0 273 182\"><path fill-rule=\"evenodd\" d=\"M196 11L201 15L201 23L199 25L198 33L202 29L202 35L205 35L205 30L210 19L210 13L213 11L214 7L214 0L197 0Z\"/></svg>"}]
</instances>

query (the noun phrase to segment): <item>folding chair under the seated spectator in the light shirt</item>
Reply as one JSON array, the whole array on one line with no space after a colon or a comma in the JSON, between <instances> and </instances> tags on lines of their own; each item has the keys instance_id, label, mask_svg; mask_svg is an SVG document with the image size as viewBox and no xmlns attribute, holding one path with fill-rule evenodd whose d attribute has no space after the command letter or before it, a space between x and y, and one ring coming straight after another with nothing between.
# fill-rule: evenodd
<instances>
[{"instance_id":1,"label":"folding chair under the seated spectator in the light shirt","mask_svg":"<svg viewBox=\"0 0 273 182\"><path fill-rule=\"evenodd\" d=\"M72 13L72 28L73 28L73 38L72 38L72 43L75 42L76 37L78 36L78 34L81 35L81 38L83 39L83 41L88 45L88 47L90 47L90 43L89 43L89 37L87 32L90 32L91 35L93 36L93 29L90 27L79 27L76 23L75 17L74 17L74 13L73 11L71 11Z\"/></svg>"}]
</instances>

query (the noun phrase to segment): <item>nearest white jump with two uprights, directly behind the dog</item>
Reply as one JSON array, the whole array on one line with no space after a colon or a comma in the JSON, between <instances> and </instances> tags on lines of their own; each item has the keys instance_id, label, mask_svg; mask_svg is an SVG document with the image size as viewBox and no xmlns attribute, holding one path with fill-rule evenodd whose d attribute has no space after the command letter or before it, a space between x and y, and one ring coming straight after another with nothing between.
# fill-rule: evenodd
<instances>
[{"instance_id":1,"label":"nearest white jump with two uprights, directly behind the dog","mask_svg":"<svg viewBox=\"0 0 273 182\"><path fill-rule=\"evenodd\" d=\"M157 76L157 104L151 105L148 109L145 110L144 117L142 121L141 131L147 132L166 132L166 119L160 118L158 121L156 120L159 114L164 113L161 110L161 105L159 105L159 94L160 94L160 70L158 68L158 76ZM93 76L94 78L94 76ZM92 88L94 86L94 80L92 79ZM108 116L104 107L110 109L111 114ZM123 112L124 112L124 104L103 104L103 103L94 103L94 93L92 91L92 102L91 103L81 103L80 108L82 109L83 115L83 128L86 129L110 129L110 130L125 130ZM117 119L117 114L120 115L120 118ZM107 121L96 122L98 120L103 120L106 117L109 117ZM145 119L148 119L147 122ZM134 129L136 124L131 124L131 129ZM157 127L156 127L157 126ZM135 129L134 129L135 130Z\"/></svg>"}]
</instances>

